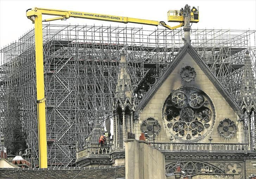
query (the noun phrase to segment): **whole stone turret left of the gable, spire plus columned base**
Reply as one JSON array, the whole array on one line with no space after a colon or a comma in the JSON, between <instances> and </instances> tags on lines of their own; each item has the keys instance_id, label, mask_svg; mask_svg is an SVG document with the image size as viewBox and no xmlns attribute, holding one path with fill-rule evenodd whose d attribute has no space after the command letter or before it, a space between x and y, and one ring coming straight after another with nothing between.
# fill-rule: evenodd
<instances>
[{"instance_id":1,"label":"whole stone turret left of the gable, spire plus columned base","mask_svg":"<svg viewBox=\"0 0 256 179\"><path fill-rule=\"evenodd\" d=\"M113 102L114 144L115 148L123 148L124 140L127 139L128 133L132 132L133 111L135 110L133 89L124 53L122 53L119 63L116 92Z\"/></svg>"}]
</instances>

